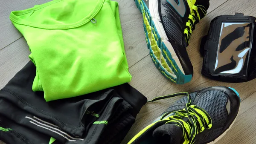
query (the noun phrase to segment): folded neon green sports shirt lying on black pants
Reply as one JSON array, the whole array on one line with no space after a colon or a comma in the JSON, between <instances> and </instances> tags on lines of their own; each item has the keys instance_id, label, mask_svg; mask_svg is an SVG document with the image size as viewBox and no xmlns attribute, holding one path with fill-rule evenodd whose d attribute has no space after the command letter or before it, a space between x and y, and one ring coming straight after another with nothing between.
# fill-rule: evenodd
<instances>
[{"instance_id":1,"label":"folded neon green sports shirt lying on black pants","mask_svg":"<svg viewBox=\"0 0 256 144\"><path fill-rule=\"evenodd\" d=\"M37 68L32 89L44 91L46 101L131 81L117 2L53 0L11 12L10 19Z\"/></svg>"}]
</instances>

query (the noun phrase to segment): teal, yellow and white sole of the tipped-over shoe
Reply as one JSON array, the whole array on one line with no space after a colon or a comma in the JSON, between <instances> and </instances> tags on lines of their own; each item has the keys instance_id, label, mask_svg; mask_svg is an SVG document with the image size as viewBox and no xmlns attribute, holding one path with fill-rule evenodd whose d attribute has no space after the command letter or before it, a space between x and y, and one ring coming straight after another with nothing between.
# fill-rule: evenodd
<instances>
[{"instance_id":1,"label":"teal, yellow and white sole of the tipped-over shoe","mask_svg":"<svg viewBox=\"0 0 256 144\"><path fill-rule=\"evenodd\" d=\"M143 0L135 0L136 6L143 15L145 39L150 56L155 66L169 80L176 84L186 84L192 75L185 75L180 61L168 41L163 25L160 22L157 0L149 0L151 12Z\"/></svg>"}]
</instances>

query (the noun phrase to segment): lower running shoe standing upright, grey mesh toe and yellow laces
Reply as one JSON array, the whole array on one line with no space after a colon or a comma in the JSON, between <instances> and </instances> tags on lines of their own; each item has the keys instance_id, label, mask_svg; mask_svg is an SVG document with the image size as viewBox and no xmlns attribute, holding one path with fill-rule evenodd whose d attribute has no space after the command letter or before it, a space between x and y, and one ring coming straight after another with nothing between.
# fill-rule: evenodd
<instances>
[{"instance_id":1,"label":"lower running shoe standing upright, grey mesh toe and yellow laces","mask_svg":"<svg viewBox=\"0 0 256 144\"><path fill-rule=\"evenodd\" d=\"M209 87L186 95L128 144L214 144L232 127L239 112L240 97L233 88ZM151 102L151 101L149 101Z\"/></svg>"}]
</instances>

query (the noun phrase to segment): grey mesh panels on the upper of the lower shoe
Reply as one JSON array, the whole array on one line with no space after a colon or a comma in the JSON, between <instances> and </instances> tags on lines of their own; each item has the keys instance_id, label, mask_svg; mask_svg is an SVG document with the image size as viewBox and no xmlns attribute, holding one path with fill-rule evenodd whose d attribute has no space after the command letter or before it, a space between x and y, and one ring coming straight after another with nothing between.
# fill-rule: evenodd
<instances>
[{"instance_id":1,"label":"grey mesh panels on the upper of the lower shoe","mask_svg":"<svg viewBox=\"0 0 256 144\"><path fill-rule=\"evenodd\" d=\"M228 117L226 110L227 96L226 93L219 90L209 90L204 93L193 92L190 94L192 99L192 105L197 105L204 109L212 118L212 124L219 124L225 121ZM201 97L199 98L198 96ZM199 98L199 99L198 99ZM196 100L196 101L195 101ZM169 107L166 112L177 111L183 109L187 103L187 96L184 96L180 100L176 101L172 107ZM164 113L166 113L164 112ZM205 140L215 139L222 132L222 127L217 128L209 132L209 135L205 137Z\"/></svg>"}]
</instances>

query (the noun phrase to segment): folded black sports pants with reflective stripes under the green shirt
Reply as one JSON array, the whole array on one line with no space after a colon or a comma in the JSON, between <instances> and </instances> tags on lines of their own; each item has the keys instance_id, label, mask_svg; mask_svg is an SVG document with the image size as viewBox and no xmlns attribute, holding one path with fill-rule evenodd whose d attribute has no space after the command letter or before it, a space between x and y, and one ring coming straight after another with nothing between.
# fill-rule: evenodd
<instances>
[{"instance_id":1,"label":"folded black sports pants with reflective stripes under the green shirt","mask_svg":"<svg viewBox=\"0 0 256 144\"><path fill-rule=\"evenodd\" d=\"M0 139L7 143L49 144L53 137L63 144L119 144L147 101L129 84L123 84L46 102L43 92L32 91L35 72L35 65L29 62L0 90L0 127L10 128L7 120L13 125L12 131L0 131Z\"/></svg>"}]
</instances>

